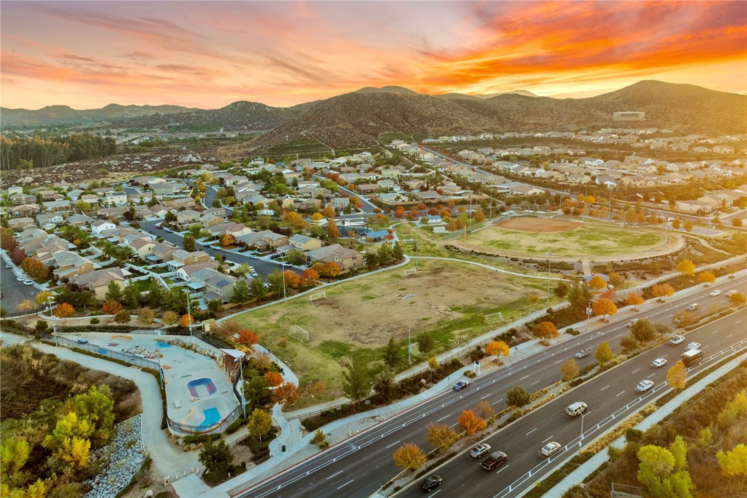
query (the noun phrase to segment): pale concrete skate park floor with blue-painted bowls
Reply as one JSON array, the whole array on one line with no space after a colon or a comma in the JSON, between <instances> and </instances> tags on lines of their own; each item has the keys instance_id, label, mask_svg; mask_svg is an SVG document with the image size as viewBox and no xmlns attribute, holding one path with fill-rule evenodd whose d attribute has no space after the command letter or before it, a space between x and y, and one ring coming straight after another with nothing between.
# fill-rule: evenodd
<instances>
[{"instance_id":1,"label":"pale concrete skate park floor with blue-painted bowls","mask_svg":"<svg viewBox=\"0 0 747 498\"><path fill-rule=\"evenodd\" d=\"M205 346L189 336L155 336L151 333L75 333L61 334L69 339L84 337L91 344L99 345L111 351L124 353L132 348L141 348L145 357L157 360L156 354L161 354L161 367L164 371L166 388L167 414L174 422L187 425L200 425L205 417L202 411L206 408L218 408L222 417L228 416L230 411L239 406L234 396L232 385L226 372L220 369L219 363L213 358L182 348L176 345L156 345L158 342L174 342L181 340L185 343L199 344L208 354L217 354L216 348ZM129 339L127 339L129 338ZM187 389L187 382L197 378L210 378L217 388L210 396L193 397ZM199 390L205 393L205 389ZM191 412L196 415L190 416ZM185 417L190 416L188 420Z\"/></svg>"}]
</instances>

